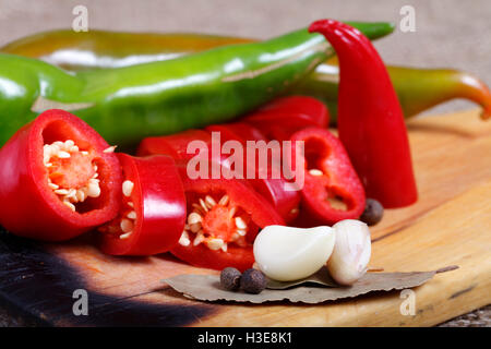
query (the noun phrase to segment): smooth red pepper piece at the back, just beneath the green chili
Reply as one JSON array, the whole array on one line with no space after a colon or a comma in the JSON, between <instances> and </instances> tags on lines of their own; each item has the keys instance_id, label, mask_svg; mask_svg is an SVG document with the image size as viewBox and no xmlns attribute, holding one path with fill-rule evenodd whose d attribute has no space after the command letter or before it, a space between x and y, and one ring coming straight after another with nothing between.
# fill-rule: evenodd
<instances>
[{"instance_id":1,"label":"smooth red pepper piece at the back, just beneath the green chili","mask_svg":"<svg viewBox=\"0 0 491 349\"><path fill-rule=\"evenodd\" d=\"M290 96L265 105L243 121L259 129L270 140L283 141L304 128L326 128L328 119L327 108L320 100Z\"/></svg>"}]
</instances>

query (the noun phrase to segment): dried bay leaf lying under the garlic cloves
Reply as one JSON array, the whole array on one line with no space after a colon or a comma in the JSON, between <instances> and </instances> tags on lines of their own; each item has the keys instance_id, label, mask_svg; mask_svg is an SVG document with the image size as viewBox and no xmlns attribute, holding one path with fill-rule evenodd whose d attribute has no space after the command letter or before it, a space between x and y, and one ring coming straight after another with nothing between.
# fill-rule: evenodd
<instances>
[{"instance_id":1,"label":"dried bay leaf lying under the garlic cloves","mask_svg":"<svg viewBox=\"0 0 491 349\"><path fill-rule=\"evenodd\" d=\"M455 268L455 267L454 267ZM218 275L182 274L165 279L170 287L187 298L202 301L235 301L263 303L287 300L314 304L345 298L354 298L372 291L391 291L412 288L430 280L436 273L452 270L443 268L433 272L368 273L349 287L309 287L302 284L287 289L265 289L259 294L242 291L227 291L220 287Z\"/></svg>"}]
</instances>

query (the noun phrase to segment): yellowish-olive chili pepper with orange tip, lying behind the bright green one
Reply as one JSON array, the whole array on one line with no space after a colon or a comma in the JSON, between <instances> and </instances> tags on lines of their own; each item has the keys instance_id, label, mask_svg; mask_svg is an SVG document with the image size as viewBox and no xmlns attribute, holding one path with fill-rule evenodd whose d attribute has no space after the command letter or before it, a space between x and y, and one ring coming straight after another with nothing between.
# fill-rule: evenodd
<instances>
[{"instance_id":1,"label":"yellowish-olive chili pepper with orange tip, lying behind the bright green one","mask_svg":"<svg viewBox=\"0 0 491 349\"><path fill-rule=\"evenodd\" d=\"M393 31L387 23L357 23L357 26L371 39ZM252 41L255 40L201 34L53 31L19 39L0 48L0 51L40 58L69 71L83 71L168 60L213 47ZM489 89L471 74L456 70L403 67L387 67L387 70L406 118L453 98L472 100L483 108L483 117L491 116ZM328 60L289 93L323 100L335 122L337 73L336 61Z\"/></svg>"}]
</instances>

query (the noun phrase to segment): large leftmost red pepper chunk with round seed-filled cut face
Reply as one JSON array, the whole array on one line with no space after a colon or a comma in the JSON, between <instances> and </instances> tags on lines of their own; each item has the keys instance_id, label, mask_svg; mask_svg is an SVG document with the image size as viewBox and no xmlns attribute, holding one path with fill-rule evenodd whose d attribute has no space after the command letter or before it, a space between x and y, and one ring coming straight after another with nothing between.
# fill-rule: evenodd
<instances>
[{"instance_id":1,"label":"large leftmost red pepper chunk with round seed-filled cut face","mask_svg":"<svg viewBox=\"0 0 491 349\"><path fill-rule=\"evenodd\" d=\"M121 170L111 151L75 116L43 112L0 149L0 224L17 236L61 241L112 219Z\"/></svg>"}]
</instances>

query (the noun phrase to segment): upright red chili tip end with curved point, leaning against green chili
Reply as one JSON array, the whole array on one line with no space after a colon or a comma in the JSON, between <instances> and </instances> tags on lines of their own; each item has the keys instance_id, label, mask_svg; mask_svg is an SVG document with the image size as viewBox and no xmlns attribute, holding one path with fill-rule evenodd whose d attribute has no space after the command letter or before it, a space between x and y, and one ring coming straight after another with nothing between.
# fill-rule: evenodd
<instances>
[{"instance_id":1,"label":"upright red chili tip end with curved point, leaning against green chili","mask_svg":"<svg viewBox=\"0 0 491 349\"><path fill-rule=\"evenodd\" d=\"M370 40L347 24L314 22L339 58L339 139L364 184L384 207L417 201L409 142L397 95Z\"/></svg>"}]
</instances>

